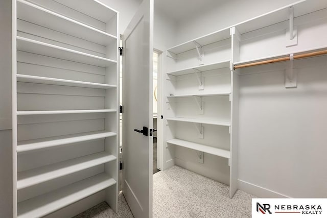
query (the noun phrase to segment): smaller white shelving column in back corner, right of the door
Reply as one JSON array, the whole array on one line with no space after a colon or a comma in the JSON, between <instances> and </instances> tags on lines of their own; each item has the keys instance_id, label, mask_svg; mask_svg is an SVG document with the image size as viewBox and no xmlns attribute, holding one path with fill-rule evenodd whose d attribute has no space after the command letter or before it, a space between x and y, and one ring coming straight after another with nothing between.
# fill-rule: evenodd
<instances>
[{"instance_id":1,"label":"smaller white shelving column in back corner, right of the door","mask_svg":"<svg viewBox=\"0 0 327 218\"><path fill-rule=\"evenodd\" d=\"M175 64L167 72L165 154L166 168L175 161L178 165L194 161L196 155L204 155L204 165L198 168L206 167L206 161L207 166L218 164L222 177L207 176L229 184L230 198L237 190L238 152L238 84L231 71L232 38L226 28L167 50ZM184 148L197 154L181 150Z\"/></svg>"}]
</instances>

